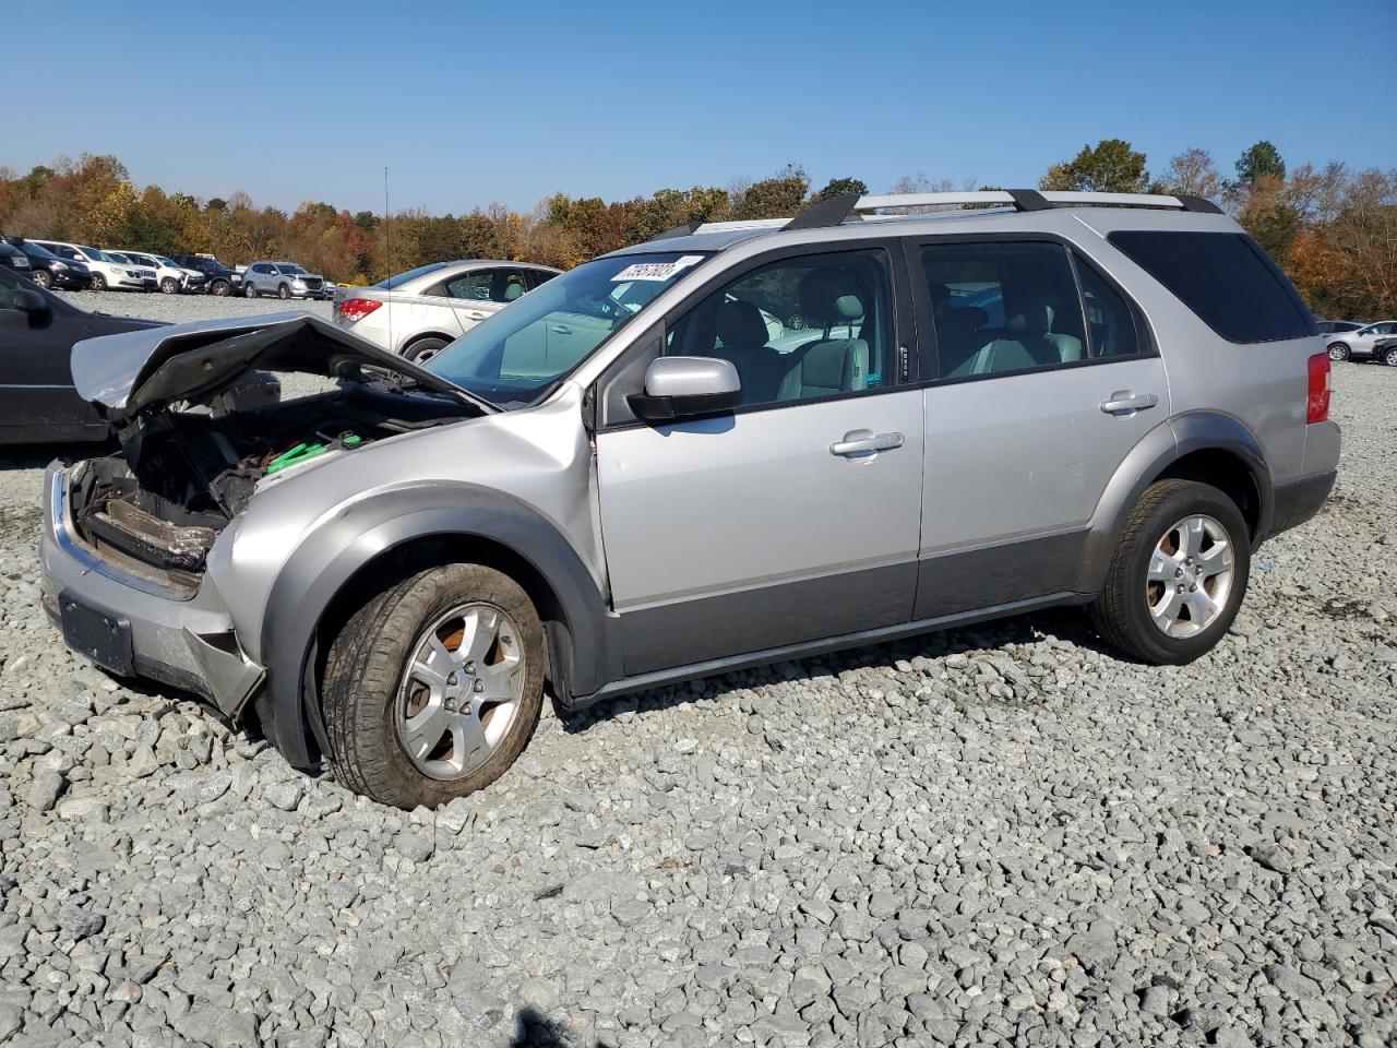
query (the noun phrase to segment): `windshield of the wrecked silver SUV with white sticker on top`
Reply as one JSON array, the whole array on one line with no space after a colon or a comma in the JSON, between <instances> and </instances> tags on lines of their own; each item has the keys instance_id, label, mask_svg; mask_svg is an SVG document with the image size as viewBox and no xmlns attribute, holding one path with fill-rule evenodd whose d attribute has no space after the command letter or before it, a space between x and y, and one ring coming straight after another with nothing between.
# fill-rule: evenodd
<instances>
[{"instance_id":1,"label":"windshield of the wrecked silver SUV with white sticker on top","mask_svg":"<svg viewBox=\"0 0 1397 1048\"><path fill-rule=\"evenodd\" d=\"M578 265L472 327L426 367L502 408L525 407L704 257L623 254Z\"/></svg>"}]
</instances>

